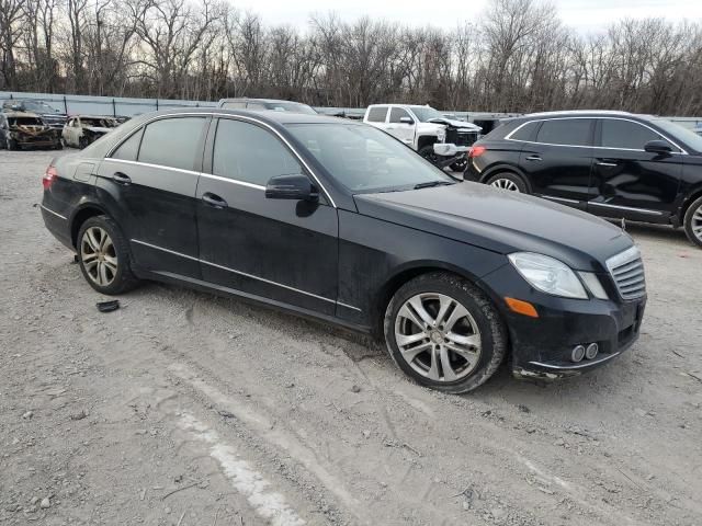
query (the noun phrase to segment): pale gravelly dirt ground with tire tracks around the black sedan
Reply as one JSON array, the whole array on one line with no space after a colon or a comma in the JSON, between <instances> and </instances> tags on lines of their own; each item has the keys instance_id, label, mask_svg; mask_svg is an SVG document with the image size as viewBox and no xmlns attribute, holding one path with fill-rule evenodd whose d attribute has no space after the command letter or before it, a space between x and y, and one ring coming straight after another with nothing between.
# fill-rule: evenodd
<instances>
[{"instance_id":1,"label":"pale gravelly dirt ground with tire tracks around the black sedan","mask_svg":"<svg viewBox=\"0 0 702 526\"><path fill-rule=\"evenodd\" d=\"M99 313L45 230L53 152L0 151L0 523L700 525L702 250L630 227L638 343L444 396L363 338L146 284Z\"/></svg>"}]
</instances>

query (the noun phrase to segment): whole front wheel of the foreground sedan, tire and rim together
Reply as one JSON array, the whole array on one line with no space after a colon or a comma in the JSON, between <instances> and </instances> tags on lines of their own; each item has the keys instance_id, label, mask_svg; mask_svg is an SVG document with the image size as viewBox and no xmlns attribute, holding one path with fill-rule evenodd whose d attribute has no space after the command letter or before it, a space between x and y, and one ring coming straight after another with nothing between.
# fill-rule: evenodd
<instances>
[{"instance_id":1,"label":"whole front wheel of the foreground sedan, tire and rim together","mask_svg":"<svg viewBox=\"0 0 702 526\"><path fill-rule=\"evenodd\" d=\"M417 305L429 325L419 327ZM443 315L442 305L449 306ZM489 298L466 279L441 272L416 277L395 293L385 311L384 334L393 361L407 376L452 395L487 381L507 353L507 328ZM398 343L401 336L406 341Z\"/></svg>"}]
</instances>

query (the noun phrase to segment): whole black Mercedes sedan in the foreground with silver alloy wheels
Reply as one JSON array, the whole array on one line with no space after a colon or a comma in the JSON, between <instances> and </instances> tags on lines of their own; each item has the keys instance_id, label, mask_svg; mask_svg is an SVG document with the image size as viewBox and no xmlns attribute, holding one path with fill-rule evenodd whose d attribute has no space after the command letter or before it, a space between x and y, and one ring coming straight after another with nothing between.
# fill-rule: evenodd
<instances>
[{"instance_id":1,"label":"whole black Mercedes sedan in the foreground with silver alloy wheels","mask_svg":"<svg viewBox=\"0 0 702 526\"><path fill-rule=\"evenodd\" d=\"M47 228L99 293L158 279L371 332L446 392L505 358L539 378L605 364L644 313L641 255L619 227L456 182L350 121L144 115L52 162L43 185Z\"/></svg>"}]
</instances>

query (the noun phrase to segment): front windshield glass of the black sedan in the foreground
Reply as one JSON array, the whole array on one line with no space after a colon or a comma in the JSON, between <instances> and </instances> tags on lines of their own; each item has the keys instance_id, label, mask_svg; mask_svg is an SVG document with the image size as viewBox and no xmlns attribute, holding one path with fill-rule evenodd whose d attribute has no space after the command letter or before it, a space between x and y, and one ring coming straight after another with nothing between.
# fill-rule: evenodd
<instances>
[{"instance_id":1,"label":"front windshield glass of the black sedan in the foreground","mask_svg":"<svg viewBox=\"0 0 702 526\"><path fill-rule=\"evenodd\" d=\"M288 124L287 128L353 193L393 192L455 182L407 146L372 126Z\"/></svg>"}]
</instances>

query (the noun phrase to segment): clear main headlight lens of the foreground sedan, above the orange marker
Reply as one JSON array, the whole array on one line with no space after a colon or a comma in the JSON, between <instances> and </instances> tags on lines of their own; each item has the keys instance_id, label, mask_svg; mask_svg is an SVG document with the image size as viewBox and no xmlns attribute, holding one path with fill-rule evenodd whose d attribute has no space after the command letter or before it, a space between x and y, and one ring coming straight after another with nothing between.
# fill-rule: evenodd
<instances>
[{"instance_id":1,"label":"clear main headlight lens of the foreground sedan, above the orange marker","mask_svg":"<svg viewBox=\"0 0 702 526\"><path fill-rule=\"evenodd\" d=\"M532 252L516 252L508 258L517 272L542 293L564 298L588 299L582 283L565 263Z\"/></svg>"}]
</instances>

